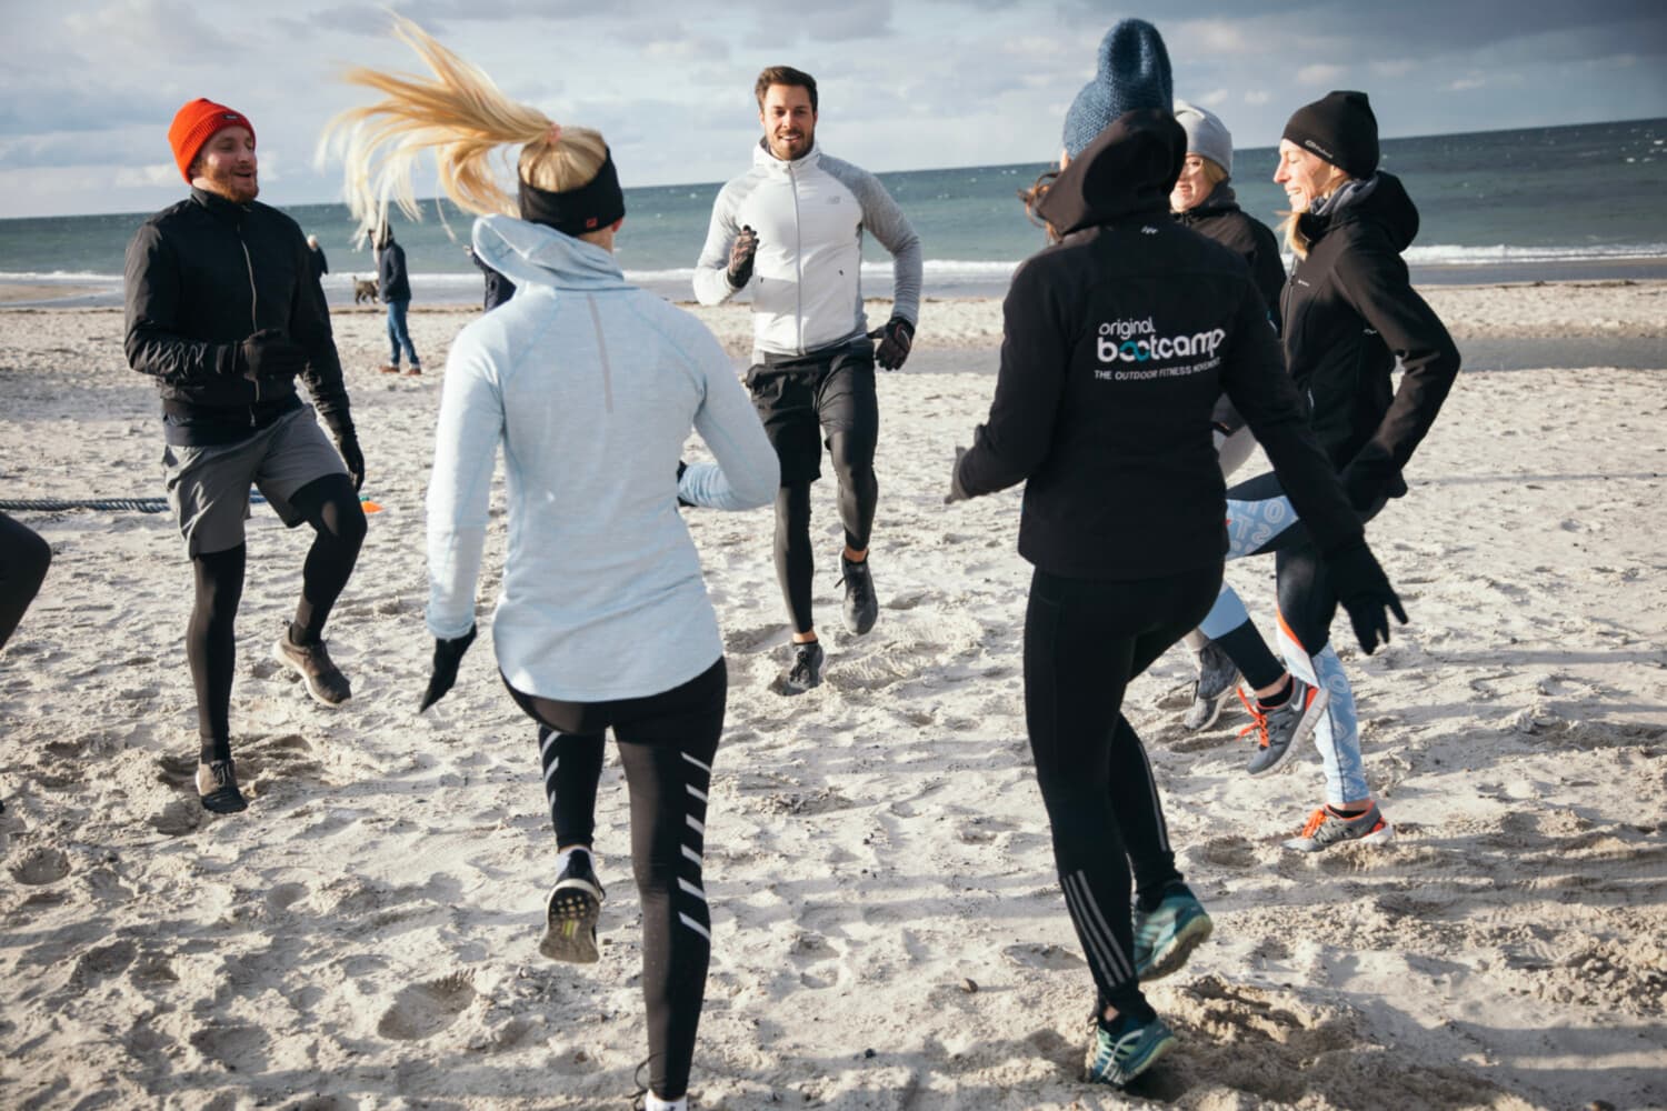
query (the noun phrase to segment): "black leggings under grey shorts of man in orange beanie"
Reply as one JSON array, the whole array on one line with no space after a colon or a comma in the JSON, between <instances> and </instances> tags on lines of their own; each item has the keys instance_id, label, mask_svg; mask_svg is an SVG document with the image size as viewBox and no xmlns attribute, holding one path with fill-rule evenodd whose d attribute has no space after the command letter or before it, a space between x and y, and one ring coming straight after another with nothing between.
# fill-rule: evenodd
<instances>
[{"instance_id":1,"label":"black leggings under grey shorts of man in orange beanie","mask_svg":"<svg viewBox=\"0 0 1667 1111\"><path fill-rule=\"evenodd\" d=\"M308 643L323 633L330 608L353 573L358 548L365 543L365 511L347 475L310 481L295 491L290 503L317 533L302 566L302 600L295 606L297 640ZM237 608L243 601L247 563L247 545L192 558L197 600L185 625L185 658L197 688L197 735L203 763L232 756Z\"/></svg>"}]
</instances>

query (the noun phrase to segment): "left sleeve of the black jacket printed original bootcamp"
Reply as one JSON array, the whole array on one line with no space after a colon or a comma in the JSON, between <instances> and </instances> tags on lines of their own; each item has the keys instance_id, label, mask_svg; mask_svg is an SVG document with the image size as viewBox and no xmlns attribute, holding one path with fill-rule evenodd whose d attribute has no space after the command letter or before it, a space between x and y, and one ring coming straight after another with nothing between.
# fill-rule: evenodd
<instances>
[{"instance_id":1,"label":"left sleeve of the black jacket printed original bootcamp","mask_svg":"<svg viewBox=\"0 0 1667 1111\"><path fill-rule=\"evenodd\" d=\"M1059 420L1074 326L1059 286L1035 265L1020 267L1002 303L1002 363L990 418L979 425L955 478L967 496L995 493L1029 478L1047 458Z\"/></svg>"}]
</instances>

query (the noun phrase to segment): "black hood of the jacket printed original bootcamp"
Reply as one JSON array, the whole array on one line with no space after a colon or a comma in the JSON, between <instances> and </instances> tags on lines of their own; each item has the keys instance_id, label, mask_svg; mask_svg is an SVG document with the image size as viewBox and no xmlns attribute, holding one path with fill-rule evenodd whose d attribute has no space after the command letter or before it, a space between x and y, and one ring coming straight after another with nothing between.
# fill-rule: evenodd
<instances>
[{"instance_id":1,"label":"black hood of the jacket printed original bootcamp","mask_svg":"<svg viewBox=\"0 0 1667 1111\"><path fill-rule=\"evenodd\" d=\"M1175 117L1125 112L1060 172L1037 215L1062 237L1134 215L1169 218L1169 193L1185 158L1187 133Z\"/></svg>"}]
</instances>

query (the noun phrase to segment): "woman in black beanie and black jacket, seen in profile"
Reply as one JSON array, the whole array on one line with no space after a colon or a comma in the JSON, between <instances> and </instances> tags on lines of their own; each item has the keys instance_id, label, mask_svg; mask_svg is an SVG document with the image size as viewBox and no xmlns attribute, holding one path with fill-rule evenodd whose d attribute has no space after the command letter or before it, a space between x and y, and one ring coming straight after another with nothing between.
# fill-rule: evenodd
<instances>
[{"instance_id":1,"label":"woman in black beanie and black jacket, seen in profile","mask_svg":"<svg viewBox=\"0 0 1667 1111\"><path fill-rule=\"evenodd\" d=\"M1367 95L1334 92L1292 113L1274 175L1290 198L1284 233L1295 255L1280 305L1285 363L1362 520L1407 493L1400 471L1459 373L1452 336L1400 258L1419 212L1400 180L1377 167ZM1392 388L1397 356L1404 373ZM1340 841L1389 841L1394 826L1365 783L1354 695L1329 645L1337 598L1319 551L1274 475L1229 490L1227 508L1229 558L1274 551L1279 580L1284 665L1232 588L1222 588L1202 625L1255 691L1245 698L1259 741L1249 771L1272 771L1312 735L1325 803L1285 846L1317 853Z\"/></svg>"}]
</instances>

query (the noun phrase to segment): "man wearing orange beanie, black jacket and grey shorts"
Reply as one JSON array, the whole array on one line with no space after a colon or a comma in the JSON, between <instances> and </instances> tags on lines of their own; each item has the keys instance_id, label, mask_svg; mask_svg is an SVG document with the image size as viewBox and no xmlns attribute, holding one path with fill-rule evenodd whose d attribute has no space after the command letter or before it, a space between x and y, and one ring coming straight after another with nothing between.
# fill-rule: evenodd
<instances>
[{"instance_id":1,"label":"man wearing orange beanie, black jacket and grey shorts","mask_svg":"<svg viewBox=\"0 0 1667 1111\"><path fill-rule=\"evenodd\" d=\"M255 202L255 127L233 108L193 100L173 117L168 147L192 193L128 243L127 360L162 395L162 471L197 581L185 630L202 741L197 793L207 810L235 813L247 805L232 766L230 705L248 488L258 486L285 525L305 521L315 533L295 620L273 655L317 701L337 706L352 688L322 633L365 538L365 456L307 238Z\"/></svg>"}]
</instances>

